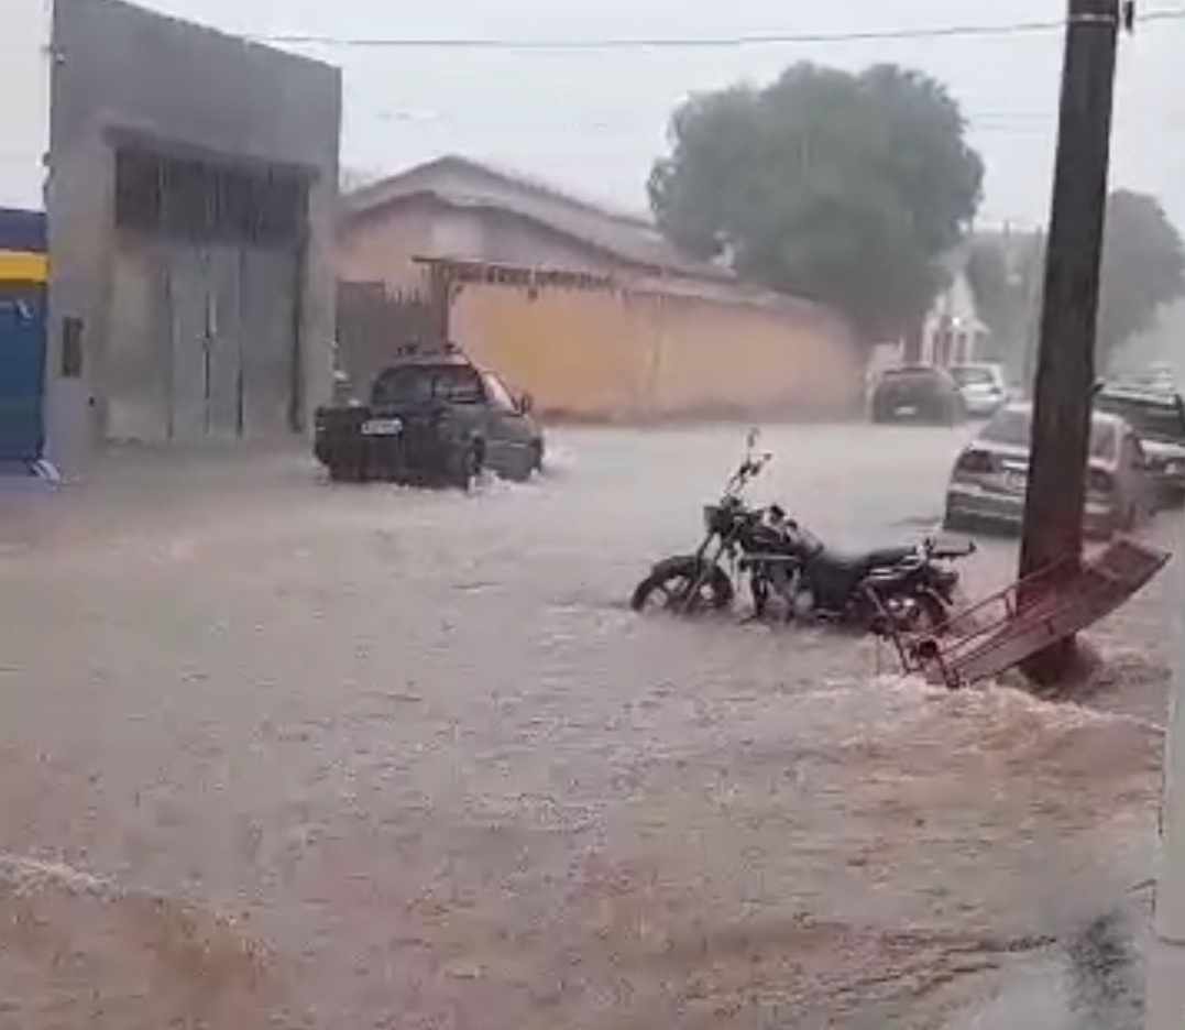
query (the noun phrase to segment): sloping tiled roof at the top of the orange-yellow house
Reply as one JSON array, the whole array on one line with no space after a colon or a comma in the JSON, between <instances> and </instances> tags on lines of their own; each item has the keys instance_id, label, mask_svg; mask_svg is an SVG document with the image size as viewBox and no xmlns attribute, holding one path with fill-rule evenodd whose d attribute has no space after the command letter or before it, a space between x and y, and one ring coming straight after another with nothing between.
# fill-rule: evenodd
<instances>
[{"instance_id":1,"label":"sloping tiled roof at the top of the orange-yellow house","mask_svg":"<svg viewBox=\"0 0 1185 1030\"><path fill-rule=\"evenodd\" d=\"M547 226L639 270L726 282L728 269L674 248L652 222L610 211L525 175L460 156L444 156L342 197L346 219L366 218L416 197L454 207L502 211Z\"/></svg>"}]
</instances>

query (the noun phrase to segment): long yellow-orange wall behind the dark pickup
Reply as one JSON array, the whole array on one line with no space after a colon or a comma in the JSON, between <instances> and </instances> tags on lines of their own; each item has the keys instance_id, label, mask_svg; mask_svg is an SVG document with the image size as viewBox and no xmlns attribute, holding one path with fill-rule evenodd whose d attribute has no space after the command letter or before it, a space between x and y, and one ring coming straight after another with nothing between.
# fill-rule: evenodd
<instances>
[{"instance_id":1,"label":"long yellow-orange wall behind the dark pickup","mask_svg":"<svg viewBox=\"0 0 1185 1030\"><path fill-rule=\"evenodd\" d=\"M863 390L850 335L806 309L566 288L532 299L467 283L450 331L544 414L828 416Z\"/></svg>"}]
</instances>

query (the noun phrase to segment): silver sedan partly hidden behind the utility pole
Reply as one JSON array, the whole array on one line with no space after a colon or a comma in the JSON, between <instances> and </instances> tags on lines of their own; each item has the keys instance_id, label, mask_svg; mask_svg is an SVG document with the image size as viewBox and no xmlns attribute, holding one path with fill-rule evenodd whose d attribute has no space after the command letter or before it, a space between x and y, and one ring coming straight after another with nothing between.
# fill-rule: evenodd
<instances>
[{"instance_id":1,"label":"silver sedan partly hidden behind the utility pole","mask_svg":"<svg viewBox=\"0 0 1185 1030\"><path fill-rule=\"evenodd\" d=\"M955 461L947 487L948 529L988 524L1019 529L1029 485L1032 407L1000 409ZM1130 530L1155 512L1155 488L1139 436L1115 415L1096 411L1083 529L1093 536Z\"/></svg>"}]
</instances>

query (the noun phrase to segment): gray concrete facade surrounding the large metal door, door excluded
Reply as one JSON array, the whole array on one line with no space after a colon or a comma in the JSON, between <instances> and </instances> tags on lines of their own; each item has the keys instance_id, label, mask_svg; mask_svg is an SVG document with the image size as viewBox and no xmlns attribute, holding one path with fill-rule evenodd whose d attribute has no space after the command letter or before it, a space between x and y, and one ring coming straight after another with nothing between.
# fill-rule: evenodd
<instances>
[{"instance_id":1,"label":"gray concrete facade surrounding the large metal door, door excluded","mask_svg":"<svg viewBox=\"0 0 1185 1030\"><path fill-rule=\"evenodd\" d=\"M98 435L95 392L110 332L114 153L121 139L308 175L299 326L307 416L332 390L340 72L118 0L56 0L52 52L50 456L68 472L78 468ZM84 324L81 379L60 375L69 318Z\"/></svg>"}]
</instances>

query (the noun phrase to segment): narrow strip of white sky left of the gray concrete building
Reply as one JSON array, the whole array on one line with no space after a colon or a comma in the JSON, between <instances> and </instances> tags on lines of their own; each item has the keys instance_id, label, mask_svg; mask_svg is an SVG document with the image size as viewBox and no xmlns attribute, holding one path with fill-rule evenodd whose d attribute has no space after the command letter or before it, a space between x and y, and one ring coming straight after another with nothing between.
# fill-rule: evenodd
<instances>
[{"instance_id":1,"label":"narrow strip of white sky left of the gray concrete building","mask_svg":"<svg viewBox=\"0 0 1185 1030\"><path fill-rule=\"evenodd\" d=\"M45 206L51 0L0 0L0 207Z\"/></svg>"}]
</instances>

